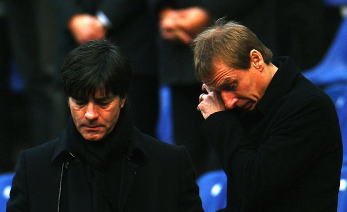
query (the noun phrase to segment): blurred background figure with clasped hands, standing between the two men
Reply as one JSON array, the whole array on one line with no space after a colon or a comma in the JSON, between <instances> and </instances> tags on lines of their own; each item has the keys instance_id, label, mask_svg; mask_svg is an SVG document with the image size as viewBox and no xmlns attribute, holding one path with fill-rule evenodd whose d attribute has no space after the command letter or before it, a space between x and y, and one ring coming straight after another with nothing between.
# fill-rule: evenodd
<instances>
[{"instance_id":1,"label":"blurred background figure with clasped hands, standing between the two men","mask_svg":"<svg viewBox=\"0 0 347 212\"><path fill-rule=\"evenodd\" d=\"M159 21L159 81L171 89L173 139L187 147L200 175L219 168L219 163L199 133L203 119L196 111L196 95L201 93L201 86L194 75L189 45L213 17L201 1L157 1L155 8Z\"/></svg>"}]
</instances>

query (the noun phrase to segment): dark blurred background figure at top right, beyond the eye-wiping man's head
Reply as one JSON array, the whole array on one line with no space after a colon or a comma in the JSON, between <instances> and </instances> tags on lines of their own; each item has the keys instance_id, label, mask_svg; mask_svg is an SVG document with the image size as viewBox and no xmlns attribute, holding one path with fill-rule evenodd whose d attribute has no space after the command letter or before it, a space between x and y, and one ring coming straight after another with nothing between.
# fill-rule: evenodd
<instances>
[{"instance_id":1,"label":"dark blurred background figure at top right, beyond the eye-wiping man's head","mask_svg":"<svg viewBox=\"0 0 347 212\"><path fill-rule=\"evenodd\" d=\"M317 65L341 21L338 8L323 0L280 0L276 4L279 48L275 55L290 56L303 71Z\"/></svg>"}]
</instances>

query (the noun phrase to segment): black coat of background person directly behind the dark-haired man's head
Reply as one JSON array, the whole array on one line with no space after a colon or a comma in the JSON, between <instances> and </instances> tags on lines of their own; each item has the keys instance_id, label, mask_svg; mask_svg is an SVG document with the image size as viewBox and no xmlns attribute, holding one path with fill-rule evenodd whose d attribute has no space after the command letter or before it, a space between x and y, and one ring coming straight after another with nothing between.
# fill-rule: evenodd
<instances>
[{"instance_id":1,"label":"black coat of background person directly behind the dark-haired man's head","mask_svg":"<svg viewBox=\"0 0 347 212\"><path fill-rule=\"evenodd\" d=\"M58 66L77 47L67 25L76 14L103 12L112 23L107 38L125 51L135 76L156 74L155 19L149 0L53 0L58 22ZM60 67L57 67L60 70Z\"/></svg>"}]
</instances>

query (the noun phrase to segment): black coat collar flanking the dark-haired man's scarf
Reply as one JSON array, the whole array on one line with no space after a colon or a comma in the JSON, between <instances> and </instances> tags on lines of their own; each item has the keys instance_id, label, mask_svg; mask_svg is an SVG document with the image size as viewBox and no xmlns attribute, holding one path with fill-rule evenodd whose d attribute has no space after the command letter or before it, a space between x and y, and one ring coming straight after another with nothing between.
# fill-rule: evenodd
<instances>
[{"instance_id":1,"label":"black coat collar flanking the dark-haired man's scarf","mask_svg":"<svg viewBox=\"0 0 347 212\"><path fill-rule=\"evenodd\" d=\"M141 158L147 158L147 154L145 152L145 149L140 142L142 140L142 133L135 127L133 127L131 132L131 140L129 144L129 148L127 150L128 157L131 156L131 158L141 159ZM58 158L62 159L68 159L73 158L75 155L73 154L68 138L66 136L66 131L62 133L62 135L59 137L57 145L54 149L54 153L51 159L51 162L54 162Z\"/></svg>"}]
</instances>

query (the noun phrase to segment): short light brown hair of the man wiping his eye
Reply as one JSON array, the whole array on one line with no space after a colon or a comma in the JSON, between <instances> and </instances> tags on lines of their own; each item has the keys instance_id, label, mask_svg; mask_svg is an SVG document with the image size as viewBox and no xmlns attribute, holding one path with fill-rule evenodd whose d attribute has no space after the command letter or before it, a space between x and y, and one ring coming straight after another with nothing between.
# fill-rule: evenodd
<instances>
[{"instance_id":1,"label":"short light brown hair of the man wiping his eye","mask_svg":"<svg viewBox=\"0 0 347 212\"><path fill-rule=\"evenodd\" d=\"M214 59L220 59L231 68L249 69L250 51L258 50L266 64L272 52L250 31L235 21L218 19L192 42L195 74L203 79L212 75Z\"/></svg>"}]
</instances>

